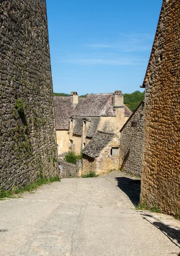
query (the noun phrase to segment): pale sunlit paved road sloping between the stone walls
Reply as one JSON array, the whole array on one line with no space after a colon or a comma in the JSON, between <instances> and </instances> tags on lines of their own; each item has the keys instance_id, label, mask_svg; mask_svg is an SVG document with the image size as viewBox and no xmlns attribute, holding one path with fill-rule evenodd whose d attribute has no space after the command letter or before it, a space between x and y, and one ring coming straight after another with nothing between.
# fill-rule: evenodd
<instances>
[{"instance_id":1,"label":"pale sunlit paved road sloping between the stone walls","mask_svg":"<svg viewBox=\"0 0 180 256\"><path fill-rule=\"evenodd\" d=\"M0 256L177 256L180 247L135 211L139 189L137 178L111 172L0 201Z\"/></svg>"}]
</instances>

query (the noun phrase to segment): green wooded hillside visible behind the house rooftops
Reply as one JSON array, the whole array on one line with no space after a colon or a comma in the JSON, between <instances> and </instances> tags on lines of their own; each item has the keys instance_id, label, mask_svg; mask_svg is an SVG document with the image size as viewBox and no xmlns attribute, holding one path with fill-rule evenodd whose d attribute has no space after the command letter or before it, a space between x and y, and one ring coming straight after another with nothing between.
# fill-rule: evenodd
<instances>
[{"instance_id":1,"label":"green wooded hillside visible behind the house rooftops","mask_svg":"<svg viewBox=\"0 0 180 256\"><path fill-rule=\"evenodd\" d=\"M70 96L67 93L53 93L54 96ZM86 97L87 94L81 95L79 97ZM124 93L124 104L134 112L135 109L138 107L140 102L144 99L144 92L141 93L140 91L135 91L134 93Z\"/></svg>"}]
</instances>

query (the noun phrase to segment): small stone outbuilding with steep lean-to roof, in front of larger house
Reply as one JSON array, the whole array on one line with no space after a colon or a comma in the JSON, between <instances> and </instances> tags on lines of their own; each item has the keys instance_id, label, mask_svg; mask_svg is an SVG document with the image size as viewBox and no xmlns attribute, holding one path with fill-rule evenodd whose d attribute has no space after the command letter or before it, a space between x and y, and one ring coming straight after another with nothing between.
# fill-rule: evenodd
<instances>
[{"instance_id":1,"label":"small stone outbuilding with steep lean-to roof, in front of larger house","mask_svg":"<svg viewBox=\"0 0 180 256\"><path fill-rule=\"evenodd\" d=\"M120 139L116 134L97 131L82 151L82 173L105 173L119 169Z\"/></svg>"}]
</instances>

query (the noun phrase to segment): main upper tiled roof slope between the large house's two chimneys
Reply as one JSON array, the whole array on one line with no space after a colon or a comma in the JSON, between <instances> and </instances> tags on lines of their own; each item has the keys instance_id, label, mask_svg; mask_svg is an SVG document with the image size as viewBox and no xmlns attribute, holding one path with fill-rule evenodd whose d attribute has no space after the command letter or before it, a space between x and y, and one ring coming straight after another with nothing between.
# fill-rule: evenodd
<instances>
[{"instance_id":1,"label":"main upper tiled roof slope between the large house's two chimneys","mask_svg":"<svg viewBox=\"0 0 180 256\"><path fill-rule=\"evenodd\" d=\"M73 116L115 116L113 93L88 94L76 106Z\"/></svg>"}]
</instances>

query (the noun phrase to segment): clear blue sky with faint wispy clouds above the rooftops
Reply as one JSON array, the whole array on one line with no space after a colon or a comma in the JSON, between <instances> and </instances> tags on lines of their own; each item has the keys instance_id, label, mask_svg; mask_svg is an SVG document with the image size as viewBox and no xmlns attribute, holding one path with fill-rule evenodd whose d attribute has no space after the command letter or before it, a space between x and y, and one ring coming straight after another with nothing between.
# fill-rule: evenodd
<instances>
[{"instance_id":1,"label":"clear blue sky with faint wispy clouds above the rooftops","mask_svg":"<svg viewBox=\"0 0 180 256\"><path fill-rule=\"evenodd\" d=\"M162 0L46 0L53 91L141 90Z\"/></svg>"}]
</instances>

